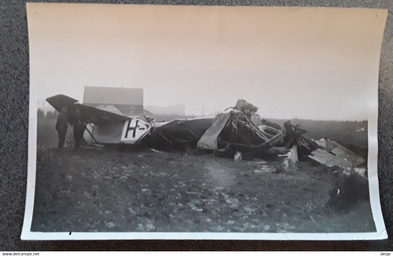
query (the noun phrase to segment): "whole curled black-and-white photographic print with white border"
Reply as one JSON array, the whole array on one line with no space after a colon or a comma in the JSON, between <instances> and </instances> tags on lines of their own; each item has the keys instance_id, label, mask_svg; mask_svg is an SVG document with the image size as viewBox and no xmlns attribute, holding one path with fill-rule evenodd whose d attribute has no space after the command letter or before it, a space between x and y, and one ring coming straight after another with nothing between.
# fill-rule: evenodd
<instances>
[{"instance_id":1,"label":"whole curled black-and-white photographic print with white border","mask_svg":"<svg viewBox=\"0 0 393 256\"><path fill-rule=\"evenodd\" d=\"M22 239L384 239L387 10L28 3Z\"/></svg>"}]
</instances>

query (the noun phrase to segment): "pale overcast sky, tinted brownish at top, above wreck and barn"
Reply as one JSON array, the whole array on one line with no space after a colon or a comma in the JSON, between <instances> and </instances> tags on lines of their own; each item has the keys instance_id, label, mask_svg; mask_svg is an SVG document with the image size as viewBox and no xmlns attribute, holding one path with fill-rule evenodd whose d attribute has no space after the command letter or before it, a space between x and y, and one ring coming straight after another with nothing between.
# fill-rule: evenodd
<instances>
[{"instance_id":1,"label":"pale overcast sky, tinted brownish at top, above wreck and barn","mask_svg":"<svg viewBox=\"0 0 393 256\"><path fill-rule=\"evenodd\" d=\"M38 99L84 86L144 89L187 114L243 98L272 118L365 120L376 103L386 11L28 4Z\"/></svg>"}]
</instances>

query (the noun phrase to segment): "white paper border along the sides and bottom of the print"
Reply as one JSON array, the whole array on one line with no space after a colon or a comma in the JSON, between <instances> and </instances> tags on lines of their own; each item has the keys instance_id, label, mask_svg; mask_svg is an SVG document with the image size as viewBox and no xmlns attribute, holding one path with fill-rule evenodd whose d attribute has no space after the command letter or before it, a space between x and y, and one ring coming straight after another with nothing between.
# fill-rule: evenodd
<instances>
[{"instance_id":1,"label":"white paper border along the sides and bottom of the print","mask_svg":"<svg viewBox=\"0 0 393 256\"><path fill-rule=\"evenodd\" d=\"M31 3L26 4L26 9ZM290 8L290 7L282 7ZM309 7L304 7L309 8ZM314 8L314 7L311 7ZM355 9L355 8L351 8ZM387 10L384 9L387 17ZM386 20L385 20L386 23ZM382 46L382 38L380 47ZM29 43L29 47L31 45ZM378 63L380 55L378 56ZM251 233L251 232L32 232L35 178L37 162L37 92L31 86L29 92L29 137L28 137L28 178L26 189L26 208L22 228L22 240L119 240L119 239L214 239L214 240L377 240L387 239L387 232L380 206L377 160L378 160L378 73L370 78L375 90L369 101L368 114L368 180L371 209L376 232L359 233Z\"/></svg>"}]
</instances>

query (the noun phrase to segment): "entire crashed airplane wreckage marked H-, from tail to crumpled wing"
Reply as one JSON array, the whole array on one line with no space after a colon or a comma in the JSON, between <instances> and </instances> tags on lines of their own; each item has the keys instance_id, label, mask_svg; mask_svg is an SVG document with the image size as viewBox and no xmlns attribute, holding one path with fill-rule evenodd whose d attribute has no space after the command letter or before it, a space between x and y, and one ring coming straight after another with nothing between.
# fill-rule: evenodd
<instances>
[{"instance_id":1,"label":"entire crashed airplane wreckage marked H-, from tail to crumpled wing","mask_svg":"<svg viewBox=\"0 0 393 256\"><path fill-rule=\"evenodd\" d=\"M283 126L256 114L258 108L243 99L234 107L213 117L174 119L156 122L149 116L124 116L119 111L105 111L80 103L64 95L47 98L57 111L67 107L68 119L76 108L86 117L84 139L94 145L143 145L154 149L197 147L219 157L237 159L284 158L288 168L298 160L311 158L329 167L338 166L343 173L366 176L358 166L366 160L330 140L313 140L306 130L287 121Z\"/></svg>"}]
</instances>

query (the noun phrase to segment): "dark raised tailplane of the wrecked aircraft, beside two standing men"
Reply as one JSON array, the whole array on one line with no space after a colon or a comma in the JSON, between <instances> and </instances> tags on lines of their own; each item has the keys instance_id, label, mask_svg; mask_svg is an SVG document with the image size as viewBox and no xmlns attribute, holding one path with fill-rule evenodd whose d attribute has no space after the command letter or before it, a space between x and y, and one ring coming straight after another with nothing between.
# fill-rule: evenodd
<instances>
[{"instance_id":1,"label":"dark raised tailplane of the wrecked aircraft, beside two standing men","mask_svg":"<svg viewBox=\"0 0 393 256\"><path fill-rule=\"evenodd\" d=\"M80 103L76 103L78 102L76 99L70 98L62 94L47 98L46 101L57 111L61 111L62 107L68 107L67 116L72 114L76 107L79 107L81 113L90 120L90 123L115 123L130 120L128 116L123 116L105 110L96 109L94 107L86 106Z\"/></svg>"}]
</instances>

